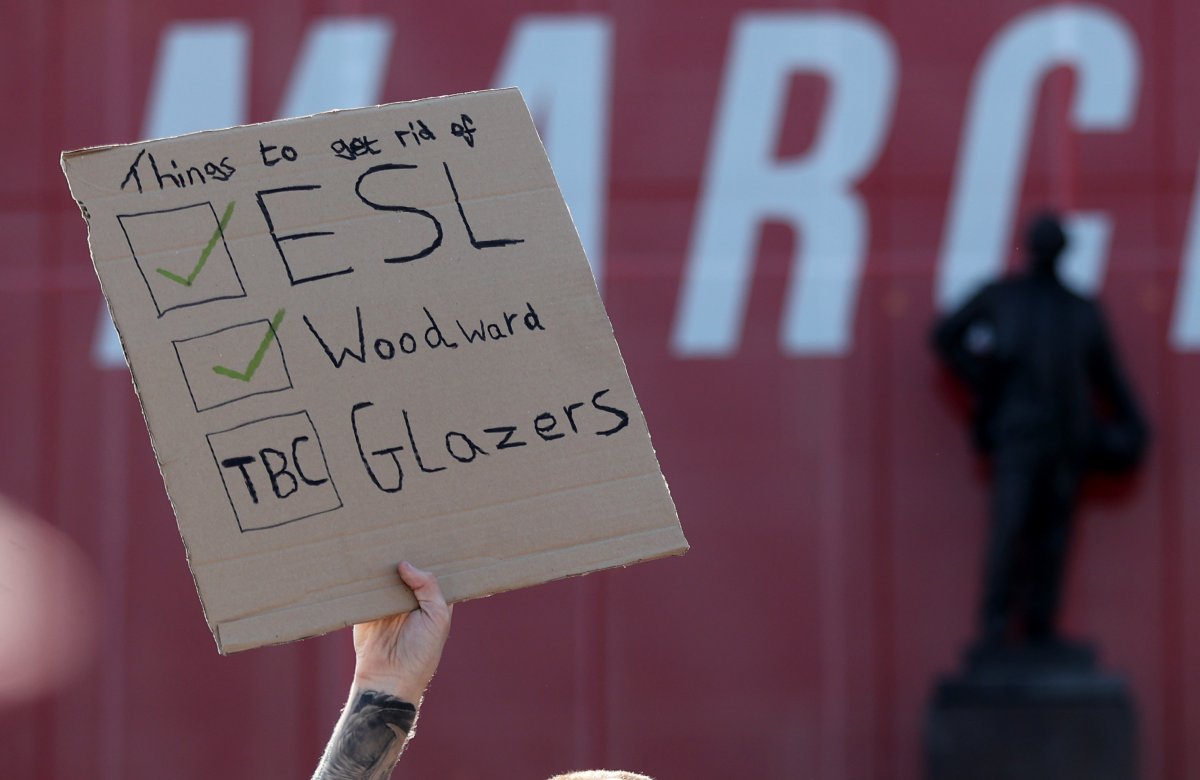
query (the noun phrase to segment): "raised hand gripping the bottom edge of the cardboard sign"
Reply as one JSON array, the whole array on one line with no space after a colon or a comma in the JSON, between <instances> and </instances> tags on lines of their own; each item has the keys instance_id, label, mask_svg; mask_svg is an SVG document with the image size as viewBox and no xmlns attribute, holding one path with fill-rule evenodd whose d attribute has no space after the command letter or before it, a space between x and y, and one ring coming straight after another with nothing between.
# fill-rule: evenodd
<instances>
[{"instance_id":1,"label":"raised hand gripping the bottom edge of the cardboard sign","mask_svg":"<svg viewBox=\"0 0 1200 780\"><path fill-rule=\"evenodd\" d=\"M419 704L442 660L452 608L433 574L407 560L397 570L413 589L418 608L354 626L354 682L360 690Z\"/></svg>"}]
</instances>

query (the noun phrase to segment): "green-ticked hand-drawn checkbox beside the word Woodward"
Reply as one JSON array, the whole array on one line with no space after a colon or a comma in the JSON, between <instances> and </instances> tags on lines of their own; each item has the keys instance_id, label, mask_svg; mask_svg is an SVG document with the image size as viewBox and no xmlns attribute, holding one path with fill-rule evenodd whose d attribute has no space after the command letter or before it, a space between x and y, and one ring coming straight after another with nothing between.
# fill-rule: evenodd
<instances>
[{"instance_id":1,"label":"green-ticked hand-drawn checkbox beside the word Woodward","mask_svg":"<svg viewBox=\"0 0 1200 780\"><path fill-rule=\"evenodd\" d=\"M229 325L170 342L197 412L292 389L278 331L283 310L268 319Z\"/></svg>"}]
</instances>

